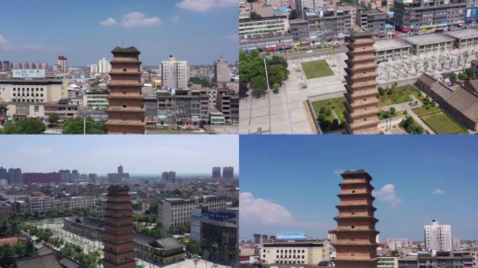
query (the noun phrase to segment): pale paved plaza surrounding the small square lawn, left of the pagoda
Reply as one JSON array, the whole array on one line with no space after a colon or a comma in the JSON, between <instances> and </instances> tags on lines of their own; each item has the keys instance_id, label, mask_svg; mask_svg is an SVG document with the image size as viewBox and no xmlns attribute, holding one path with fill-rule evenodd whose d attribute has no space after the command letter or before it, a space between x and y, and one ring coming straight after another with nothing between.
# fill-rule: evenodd
<instances>
[{"instance_id":1,"label":"pale paved plaza surrounding the small square lawn, left of the pagoda","mask_svg":"<svg viewBox=\"0 0 478 268\"><path fill-rule=\"evenodd\" d=\"M305 79L300 63L325 59L334 75ZM289 79L279 93L268 92L261 98L249 96L240 101L241 134L312 134L316 133L307 107L307 98L345 92L345 54L322 55L288 61Z\"/></svg>"}]
</instances>

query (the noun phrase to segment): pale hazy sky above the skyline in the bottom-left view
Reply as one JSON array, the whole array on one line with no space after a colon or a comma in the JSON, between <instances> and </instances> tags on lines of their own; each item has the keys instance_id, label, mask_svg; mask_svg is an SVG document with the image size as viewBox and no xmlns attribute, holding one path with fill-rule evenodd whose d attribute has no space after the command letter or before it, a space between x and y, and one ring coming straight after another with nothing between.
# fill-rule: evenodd
<instances>
[{"instance_id":1,"label":"pale hazy sky above the skyline in the bottom-left view","mask_svg":"<svg viewBox=\"0 0 478 268\"><path fill-rule=\"evenodd\" d=\"M3 135L0 165L22 172L61 169L107 174L122 164L130 174L238 173L237 135Z\"/></svg>"}]
</instances>

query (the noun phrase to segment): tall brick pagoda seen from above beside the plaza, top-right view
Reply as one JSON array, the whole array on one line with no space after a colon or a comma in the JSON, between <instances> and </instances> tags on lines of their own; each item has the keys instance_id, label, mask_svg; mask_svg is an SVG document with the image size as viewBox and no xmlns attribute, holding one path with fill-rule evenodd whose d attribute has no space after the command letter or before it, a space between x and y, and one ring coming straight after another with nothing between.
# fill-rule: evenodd
<instances>
[{"instance_id":1,"label":"tall brick pagoda seen from above beside the plaza, top-right view","mask_svg":"<svg viewBox=\"0 0 478 268\"><path fill-rule=\"evenodd\" d=\"M377 63L373 33L363 29L353 29L349 43L349 59L345 61L347 75L345 80L345 128L349 134L379 133Z\"/></svg>"}]
</instances>

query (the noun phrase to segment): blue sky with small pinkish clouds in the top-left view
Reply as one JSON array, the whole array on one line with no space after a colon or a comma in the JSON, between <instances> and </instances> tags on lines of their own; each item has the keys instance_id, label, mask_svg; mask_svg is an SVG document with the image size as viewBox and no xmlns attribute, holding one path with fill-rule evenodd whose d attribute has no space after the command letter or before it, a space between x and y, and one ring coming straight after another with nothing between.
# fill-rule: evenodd
<instances>
[{"instance_id":1,"label":"blue sky with small pinkish clouds in the top-left view","mask_svg":"<svg viewBox=\"0 0 478 268\"><path fill-rule=\"evenodd\" d=\"M1 61L52 64L63 55L86 66L122 43L138 47L146 65L170 54L190 64L238 60L237 0L3 1L0 25Z\"/></svg>"}]
</instances>

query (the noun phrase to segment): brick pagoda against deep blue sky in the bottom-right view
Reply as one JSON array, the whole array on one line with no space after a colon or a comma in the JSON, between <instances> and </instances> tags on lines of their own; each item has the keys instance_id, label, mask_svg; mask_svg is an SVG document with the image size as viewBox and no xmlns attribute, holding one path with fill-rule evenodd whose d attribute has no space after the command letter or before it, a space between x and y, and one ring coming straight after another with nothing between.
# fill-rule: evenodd
<instances>
[{"instance_id":1,"label":"brick pagoda against deep blue sky in the bottom-right view","mask_svg":"<svg viewBox=\"0 0 478 268\"><path fill-rule=\"evenodd\" d=\"M341 191L338 194L340 204L336 206L339 214L334 219L338 227L335 246L335 267L369 267L376 268L377 234L374 217L370 174L365 170L347 170L342 174Z\"/></svg>"}]
</instances>

